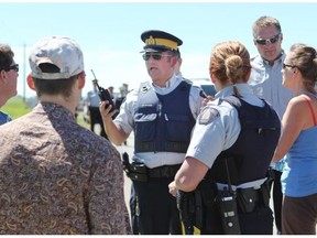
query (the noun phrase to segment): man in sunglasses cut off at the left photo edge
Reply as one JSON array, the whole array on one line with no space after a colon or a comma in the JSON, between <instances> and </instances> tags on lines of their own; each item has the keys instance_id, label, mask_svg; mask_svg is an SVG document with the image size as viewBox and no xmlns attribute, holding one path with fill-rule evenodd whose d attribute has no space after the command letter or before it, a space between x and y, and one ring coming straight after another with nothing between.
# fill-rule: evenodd
<instances>
[{"instance_id":1,"label":"man in sunglasses cut off at the left photo edge","mask_svg":"<svg viewBox=\"0 0 317 238\"><path fill-rule=\"evenodd\" d=\"M7 44L0 44L0 108L17 95L19 65L15 64L14 53ZM0 125L11 121L9 115L0 110Z\"/></svg>"}]
</instances>

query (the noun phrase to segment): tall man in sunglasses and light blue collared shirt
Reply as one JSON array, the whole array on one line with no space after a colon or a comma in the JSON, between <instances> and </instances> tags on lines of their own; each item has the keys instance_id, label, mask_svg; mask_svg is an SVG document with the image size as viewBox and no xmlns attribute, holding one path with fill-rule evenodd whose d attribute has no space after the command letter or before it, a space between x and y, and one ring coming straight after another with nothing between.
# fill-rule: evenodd
<instances>
[{"instance_id":1,"label":"tall man in sunglasses and light blue collared shirt","mask_svg":"<svg viewBox=\"0 0 317 238\"><path fill-rule=\"evenodd\" d=\"M285 53L282 50L282 28L275 18L261 17L253 26L253 42L259 55L251 58L251 76L249 84L260 98L264 98L282 119L286 106L293 97L292 91L282 85L282 67ZM281 234L282 188L281 175L284 161L271 164L273 170L273 204L277 234Z\"/></svg>"}]
</instances>

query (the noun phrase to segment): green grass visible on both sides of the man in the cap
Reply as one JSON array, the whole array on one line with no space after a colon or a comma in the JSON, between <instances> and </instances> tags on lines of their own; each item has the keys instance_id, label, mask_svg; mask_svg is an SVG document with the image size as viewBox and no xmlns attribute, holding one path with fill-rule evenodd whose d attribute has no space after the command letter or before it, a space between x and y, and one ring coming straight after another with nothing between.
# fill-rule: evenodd
<instances>
[{"instance_id":1,"label":"green grass visible on both sides of the man in the cap","mask_svg":"<svg viewBox=\"0 0 317 238\"><path fill-rule=\"evenodd\" d=\"M29 108L26 104L23 101L23 98L21 96L15 96L13 98L10 98L7 104L1 108L2 111L8 113L13 120L22 117L23 115L30 112L32 108ZM89 129L89 123L84 121L83 118L83 111L78 112L77 117L77 123L81 127L85 127Z\"/></svg>"}]
</instances>

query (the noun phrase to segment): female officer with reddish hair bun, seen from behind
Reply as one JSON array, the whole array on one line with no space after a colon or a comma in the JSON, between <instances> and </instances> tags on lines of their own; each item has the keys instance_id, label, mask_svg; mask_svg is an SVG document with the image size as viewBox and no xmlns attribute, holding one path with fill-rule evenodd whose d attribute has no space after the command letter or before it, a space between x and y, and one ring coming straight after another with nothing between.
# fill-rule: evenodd
<instances>
[{"instance_id":1,"label":"female officer with reddish hair bun, seen from behind","mask_svg":"<svg viewBox=\"0 0 317 238\"><path fill-rule=\"evenodd\" d=\"M212 48L209 74L216 100L201 109L185 161L170 184L174 195L200 192L201 234L273 232L266 171L281 123L247 84L250 72L250 55L241 43Z\"/></svg>"}]
</instances>

